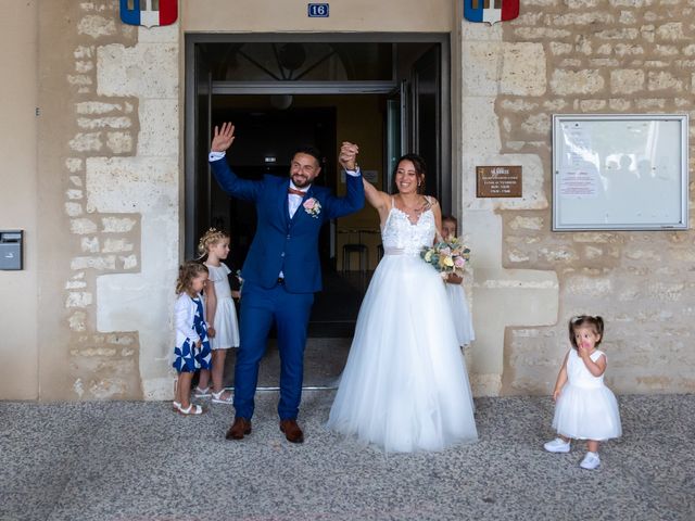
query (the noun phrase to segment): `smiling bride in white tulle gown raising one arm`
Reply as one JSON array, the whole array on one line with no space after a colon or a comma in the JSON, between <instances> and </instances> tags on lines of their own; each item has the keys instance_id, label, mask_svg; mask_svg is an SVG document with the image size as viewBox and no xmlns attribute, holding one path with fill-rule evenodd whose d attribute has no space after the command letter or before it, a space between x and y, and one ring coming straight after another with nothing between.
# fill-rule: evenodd
<instances>
[{"instance_id":1,"label":"smiling bride in white tulle gown raising one arm","mask_svg":"<svg viewBox=\"0 0 695 521\"><path fill-rule=\"evenodd\" d=\"M328 428L386 452L440 450L477 440L473 402L440 275L420 258L441 229L421 195L425 162L401 157L395 196L365 183L384 256L365 294Z\"/></svg>"}]
</instances>

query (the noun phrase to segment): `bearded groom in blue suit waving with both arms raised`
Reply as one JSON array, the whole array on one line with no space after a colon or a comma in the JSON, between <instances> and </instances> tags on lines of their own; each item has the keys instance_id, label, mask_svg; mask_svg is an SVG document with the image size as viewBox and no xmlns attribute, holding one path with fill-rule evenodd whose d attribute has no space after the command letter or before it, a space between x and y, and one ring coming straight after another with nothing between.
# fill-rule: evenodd
<instances>
[{"instance_id":1,"label":"bearded groom in blue suit waving with both arms raised","mask_svg":"<svg viewBox=\"0 0 695 521\"><path fill-rule=\"evenodd\" d=\"M280 431L288 441L302 443L296 424L302 398L304 345L314 293L321 289L318 234L321 225L361 209L365 203L356 165L357 145L343 143L339 161L348 173L348 194L338 198L313 185L320 174L315 149L300 149L292 157L290 178L264 176L252 181L238 178L224 158L235 140L230 123L215 127L210 164L222 189L256 205L256 233L241 270L240 346L235 367L235 421L227 440L251 433L258 365L268 332L277 325L280 351Z\"/></svg>"}]
</instances>

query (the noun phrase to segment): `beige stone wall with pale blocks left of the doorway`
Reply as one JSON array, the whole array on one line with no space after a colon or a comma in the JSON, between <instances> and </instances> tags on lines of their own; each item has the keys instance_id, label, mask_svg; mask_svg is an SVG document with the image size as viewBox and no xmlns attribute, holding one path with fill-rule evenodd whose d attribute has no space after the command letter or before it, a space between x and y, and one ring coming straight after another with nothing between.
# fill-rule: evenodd
<instances>
[{"instance_id":1,"label":"beige stone wall with pale blocks left of the doorway","mask_svg":"<svg viewBox=\"0 0 695 521\"><path fill-rule=\"evenodd\" d=\"M178 27L39 14L42 399L164 397L178 262Z\"/></svg>"}]
</instances>

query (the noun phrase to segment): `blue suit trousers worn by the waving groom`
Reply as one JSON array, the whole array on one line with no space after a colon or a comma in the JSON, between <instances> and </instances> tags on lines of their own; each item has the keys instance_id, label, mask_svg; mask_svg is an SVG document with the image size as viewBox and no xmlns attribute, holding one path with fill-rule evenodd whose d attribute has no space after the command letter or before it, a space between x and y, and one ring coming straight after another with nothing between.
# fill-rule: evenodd
<instances>
[{"instance_id":1,"label":"blue suit trousers worn by the waving groom","mask_svg":"<svg viewBox=\"0 0 695 521\"><path fill-rule=\"evenodd\" d=\"M258 367L275 322L280 352L281 420L296 419L302 399L306 329L314 293L290 293L282 284L266 289L249 280L241 293L240 345L235 367L236 416L251 419Z\"/></svg>"}]
</instances>

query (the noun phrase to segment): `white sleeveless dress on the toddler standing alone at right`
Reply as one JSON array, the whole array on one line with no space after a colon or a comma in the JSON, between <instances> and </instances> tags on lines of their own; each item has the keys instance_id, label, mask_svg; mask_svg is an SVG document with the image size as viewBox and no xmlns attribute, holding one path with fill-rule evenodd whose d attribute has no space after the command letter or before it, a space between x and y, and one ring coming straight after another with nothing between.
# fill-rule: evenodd
<instances>
[{"instance_id":1,"label":"white sleeveless dress on the toddler standing alone at right","mask_svg":"<svg viewBox=\"0 0 695 521\"><path fill-rule=\"evenodd\" d=\"M606 356L602 351L590 355L593 361ZM567 383L563 387L553 427L559 434L578 440L604 441L622 434L618 402L604 384L604 376L594 377L577 350L569 350Z\"/></svg>"}]
</instances>

